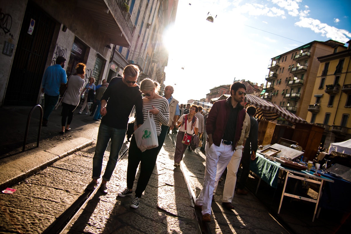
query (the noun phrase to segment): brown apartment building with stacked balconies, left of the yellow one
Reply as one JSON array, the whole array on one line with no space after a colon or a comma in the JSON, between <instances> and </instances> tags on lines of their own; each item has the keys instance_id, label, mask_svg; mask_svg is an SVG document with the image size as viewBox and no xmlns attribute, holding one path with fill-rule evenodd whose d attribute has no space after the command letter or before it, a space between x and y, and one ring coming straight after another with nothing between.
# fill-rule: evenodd
<instances>
[{"instance_id":1,"label":"brown apartment building with stacked balconies, left of the yellow one","mask_svg":"<svg viewBox=\"0 0 351 234\"><path fill-rule=\"evenodd\" d=\"M313 90L319 67L317 58L346 48L344 45L333 40L312 41L275 56L268 66L261 98L306 119L312 97L309 91Z\"/></svg>"}]
</instances>

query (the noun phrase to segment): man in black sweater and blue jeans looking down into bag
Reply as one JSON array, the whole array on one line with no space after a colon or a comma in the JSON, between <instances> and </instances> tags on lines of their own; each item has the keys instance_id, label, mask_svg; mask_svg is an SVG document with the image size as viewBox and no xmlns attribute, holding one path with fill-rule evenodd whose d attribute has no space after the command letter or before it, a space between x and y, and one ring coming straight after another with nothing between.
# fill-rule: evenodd
<instances>
[{"instance_id":1,"label":"man in black sweater and blue jeans looking down into bag","mask_svg":"<svg viewBox=\"0 0 351 234\"><path fill-rule=\"evenodd\" d=\"M139 73L137 66L126 66L123 76L114 77L101 98L101 109L97 111L100 111L102 119L93 158L93 180L87 186L88 190L93 190L98 185L104 153L111 139L110 156L100 186L102 193L108 192L106 182L110 181L116 166L119 151L125 139L129 115L134 105L138 126L144 123L143 100L140 88L136 83Z\"/></svg>"}]
</instances>

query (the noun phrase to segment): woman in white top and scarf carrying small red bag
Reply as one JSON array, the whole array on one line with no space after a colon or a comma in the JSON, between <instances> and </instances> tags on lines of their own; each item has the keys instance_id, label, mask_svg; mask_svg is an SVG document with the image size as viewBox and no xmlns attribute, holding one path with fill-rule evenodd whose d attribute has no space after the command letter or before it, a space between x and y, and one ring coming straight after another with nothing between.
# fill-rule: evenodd
<instances>
[{"instance_id":1,"label":"woman in white top and scarf carrying small red bag","mask_svg":"<svg viewBox=\"0 0 351 234\"><path fill-rule=\"evenodd\" d=\"M196 105L191 105L189 114L182 115L176 123L176 127L179 128L179 131L177 133L176 152L174 153L174 167L180 166L180 161L183 159L185 149L190 145L191 136L194 132L196 135L198 134L199 122L195 117L198 111L199 108Z\"/></svg>"}]
</instances>

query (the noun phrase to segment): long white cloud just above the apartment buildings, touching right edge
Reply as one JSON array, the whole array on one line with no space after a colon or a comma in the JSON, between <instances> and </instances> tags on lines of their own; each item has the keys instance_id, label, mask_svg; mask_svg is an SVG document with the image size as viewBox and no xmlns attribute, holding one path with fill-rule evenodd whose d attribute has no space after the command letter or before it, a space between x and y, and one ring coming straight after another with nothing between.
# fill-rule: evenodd
<instances>
[{"instance_id":1,"label":"long white cloud just above the apartment buildings, touching right edge","mask_svg":"<svg viewBox=\"0 0 351 234\"><path fill-rule=\"evenodd\" d=\"M319 20L312 18L300 17L300 21L295 23L296 26L303 28L310 28L315 33L320 33L326 38L346 43L351 38L351 33L345 29L338 29L336 27L324 24Z\"/></svg>"}]
</instances>

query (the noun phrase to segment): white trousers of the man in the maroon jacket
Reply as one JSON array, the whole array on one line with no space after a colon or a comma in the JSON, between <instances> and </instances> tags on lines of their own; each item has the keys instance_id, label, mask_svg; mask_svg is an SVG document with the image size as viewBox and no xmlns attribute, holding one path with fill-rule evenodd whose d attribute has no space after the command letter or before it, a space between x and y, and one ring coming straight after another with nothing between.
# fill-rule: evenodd
<instances>
[{"instance_id":1,"label":"white trousers of the man in the maroon jacket","mask_svg":"<svg viewBox=\"0 0 351 234\"><path fill-rule=\"evenodd\" d=\"M217 173L220 175L224 172L233 155L231 145L221 143L218 146L206 144L206 167L204 186L198 198L195 201L196 205L202 205L202 214L211 214L211 203L214 190L214 183Z\"/></svg>"}]
</instances>

